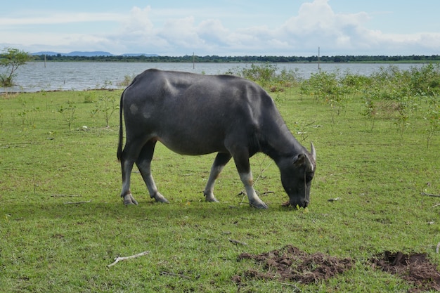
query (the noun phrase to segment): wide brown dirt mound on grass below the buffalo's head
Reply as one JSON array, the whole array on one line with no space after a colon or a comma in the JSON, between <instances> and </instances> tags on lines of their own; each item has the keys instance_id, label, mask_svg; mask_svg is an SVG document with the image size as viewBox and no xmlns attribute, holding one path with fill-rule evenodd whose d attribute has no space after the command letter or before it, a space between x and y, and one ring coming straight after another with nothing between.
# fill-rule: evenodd
<instances>
[{"instance_id":1,"label":"wide brown dirt mound on grass below the buffalo's head","mask_svg":"<svg viewBox=\"0 0 440 293\"><path fill-rule=\"evenodd\" d=\"M292 245L257 255L243 253L238 256L239 261L242 259L253 259L262 265L264 271L248 270L242 275L235 275L233 281L237 285L243 279L288 280L310 284L328 280L354 266L351 259L338 259L321 253L307 254Z\"/></svg>"}]
</instances>

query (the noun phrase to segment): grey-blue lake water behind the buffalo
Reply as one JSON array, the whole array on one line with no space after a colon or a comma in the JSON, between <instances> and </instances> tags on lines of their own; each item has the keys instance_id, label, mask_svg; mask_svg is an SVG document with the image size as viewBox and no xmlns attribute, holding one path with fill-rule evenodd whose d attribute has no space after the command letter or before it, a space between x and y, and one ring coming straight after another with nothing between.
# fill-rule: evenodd
<instances>
[{"instance_id":1,"label":"grey-blue lake water behind the buffalo","mask_svg":"<svg viewBox=\"0 0 440 293\"><path fill-rule=\"evenodd\" d=\"M393 64L401 70L422 64ZM278 63L278 70L295 70L299 76L308 78L318 72L317 63ZM389 64L323 63L321 70L369 75ZM117 62L32 62L22 65L14 79L17 86L0 88L0 92L34 92L55 90L85 90L120 88L126 76L132 78L149 68L179 70L204 74L223 74L228 70L250 67L250 63L117 63Z\"/></svg>"}]
</instances>

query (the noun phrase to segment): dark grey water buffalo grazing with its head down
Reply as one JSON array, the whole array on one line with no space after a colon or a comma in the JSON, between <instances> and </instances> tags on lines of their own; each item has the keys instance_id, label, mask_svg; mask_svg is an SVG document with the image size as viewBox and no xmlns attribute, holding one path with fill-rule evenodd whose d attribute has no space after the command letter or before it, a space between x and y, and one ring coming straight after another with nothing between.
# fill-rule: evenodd
<instances>
[{"instance_id":1,"label":"dark grey water buffalo grazing with its head down","mask_svg":"<svg viewBox=\"0 0 440 293\"><path fill-rule=\"evenodd\" d=\"M122 150L124 116L127 132ZM294 207L307 207L316 168L316 151L307 151L290 133L268 93L231 75L145 70L121 96L117 158L122 167L124 204L138 204L130 191L136 163L150 197L168 202L156 188L150 164L160 141L181 155L217 152L205 187L207 202L217 202L214 183L233 157L252 207L266 209L252 187L249 158L264 152L280 169L281 182Z\"/></svg>"}]
</instances>

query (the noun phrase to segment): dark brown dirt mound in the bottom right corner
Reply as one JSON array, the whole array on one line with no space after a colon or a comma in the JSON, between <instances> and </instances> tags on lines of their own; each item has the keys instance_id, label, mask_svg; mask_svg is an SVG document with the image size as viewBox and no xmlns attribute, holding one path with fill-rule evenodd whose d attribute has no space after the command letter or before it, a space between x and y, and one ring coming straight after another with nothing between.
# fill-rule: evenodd
<instances>
[{"instance_id":1,"label":"dark brown dirt mound in the bottom right corner","mask_svg":"<svg viewBox=\"0 0 440 293\"><path fill-rule=\"evenodd\" d=\"M403 254L402 252L384 252L370 260L373 267L379 267L387 273L398 275L413 283L410 292L426 290L440 291L440 272L427 259L426 254Z\"/></svg>"}]
</instances>

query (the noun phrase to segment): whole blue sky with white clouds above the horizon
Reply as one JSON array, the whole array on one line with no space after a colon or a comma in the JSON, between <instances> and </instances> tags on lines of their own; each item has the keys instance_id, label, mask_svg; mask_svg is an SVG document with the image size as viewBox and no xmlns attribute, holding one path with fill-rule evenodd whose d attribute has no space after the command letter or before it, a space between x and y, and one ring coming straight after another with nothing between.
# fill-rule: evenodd
<instances>
[{"instance_id":1,"label":"whole blue sky with white clouds above the horizon","mask_svg":"<svg viewBox=\"0 0 440 293\"><path fill-rule=\"evenodd\" d=\"M0 49L160 56L440 54L439 0L3 1Z\"/></svg>"}]
</instances>

